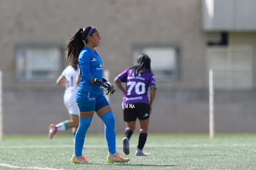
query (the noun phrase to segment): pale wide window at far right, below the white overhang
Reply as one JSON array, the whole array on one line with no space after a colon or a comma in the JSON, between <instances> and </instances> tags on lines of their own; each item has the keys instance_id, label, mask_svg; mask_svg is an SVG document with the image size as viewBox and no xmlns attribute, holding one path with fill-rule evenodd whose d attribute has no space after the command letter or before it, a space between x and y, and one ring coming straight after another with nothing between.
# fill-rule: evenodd
<instances>
[{"instance_id":1,"label":"pale wide window at far right, below the white overhang","mask_svg":"<svg viewBox=\"0 0 256 170\"><path fill-rule=\"evenodd\" d=\"M213 83L218 90L252 88L250 46L214 47L207 49L208 69L213 69Z\"/></svg>"}]
</instances>

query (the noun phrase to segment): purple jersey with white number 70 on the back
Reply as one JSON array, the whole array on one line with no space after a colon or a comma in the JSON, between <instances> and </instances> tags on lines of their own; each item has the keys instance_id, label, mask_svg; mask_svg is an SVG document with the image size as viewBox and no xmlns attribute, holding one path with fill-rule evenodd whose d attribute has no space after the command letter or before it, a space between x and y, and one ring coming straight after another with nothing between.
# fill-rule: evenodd
<instances>
[{"instance_id":1,"label":"purple jersey with white number 70 on the back","mask_svg":"<svg viewBox=\"0 0 256 170\"><path fill-rule=\"evenodd\" d=\"M117 75L116 80L119 82L126 82L126 93L122 99L122 104L147 103L148 87L156 88L155 77L152 72L142 72L136 77L132 69L124 70Z\"/></svg>"}]
</instances>

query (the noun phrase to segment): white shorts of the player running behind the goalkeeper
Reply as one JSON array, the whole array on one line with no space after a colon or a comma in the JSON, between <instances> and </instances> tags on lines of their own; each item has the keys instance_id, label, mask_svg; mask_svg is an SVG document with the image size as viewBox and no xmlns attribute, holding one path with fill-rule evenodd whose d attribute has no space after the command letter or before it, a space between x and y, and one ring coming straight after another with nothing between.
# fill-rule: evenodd
<instances>
[{"instance_id":1,"label":"white shorts of the player running behind the goalkeeper","mask_svg":"<svg viewBox=\"0 0 256 170\"><path fill-rule=\"evenodd\" d=\"M79 108L75 102L75 93L64 93L64 104L70 115L79 116Z\"/></svg>"}]
</instances>

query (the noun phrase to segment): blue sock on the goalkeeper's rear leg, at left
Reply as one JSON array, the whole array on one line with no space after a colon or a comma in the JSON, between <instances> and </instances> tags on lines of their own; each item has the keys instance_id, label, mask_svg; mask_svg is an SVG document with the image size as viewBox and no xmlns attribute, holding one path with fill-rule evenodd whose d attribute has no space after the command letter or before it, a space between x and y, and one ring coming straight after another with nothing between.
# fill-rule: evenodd
<instances>
[{"instance_id":1,"label":"blue sock on the goalkeeper's rear leg, at left","mask_svg":"<svg viewBox=\"0 0 256 170\"><path fill-rule=\"evenodd\" d=\"M75 156L82 156L83 143L85 142L85 135L90 127L93 117L79 117L79 127L75 133Z\"/></svg>"}]
</instances>

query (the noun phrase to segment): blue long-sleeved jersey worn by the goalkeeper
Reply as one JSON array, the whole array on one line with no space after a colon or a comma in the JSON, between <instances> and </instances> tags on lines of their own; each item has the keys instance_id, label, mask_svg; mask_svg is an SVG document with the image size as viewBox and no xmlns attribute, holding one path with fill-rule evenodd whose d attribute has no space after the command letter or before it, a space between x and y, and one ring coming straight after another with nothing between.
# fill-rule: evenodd
<instances>
[{"instance_id":1,"label":"blue long-sleeved jersey worn by the goalkeeper","mask_svg":"<svg viewBox=\"0 0 256 170\"><path fill-rule=\"evenodd\" d=\"M103 66L101 57L96 51L85 46L79 54L80 83L77 91L89 91L95 95L103 94L103 90L90 82L93 77L102 82Z\"/></svg>"}]
</instances>

